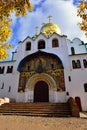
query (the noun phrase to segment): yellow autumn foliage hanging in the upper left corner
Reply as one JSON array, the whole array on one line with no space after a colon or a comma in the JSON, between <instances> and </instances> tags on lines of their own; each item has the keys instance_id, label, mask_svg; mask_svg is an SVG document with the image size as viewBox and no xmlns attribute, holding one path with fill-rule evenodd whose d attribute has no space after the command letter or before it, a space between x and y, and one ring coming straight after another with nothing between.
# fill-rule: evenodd
<instances>
[{"instance_id":1,"label":"yellow autumn foliage hanging in the upper left corner","mask_svg":"<svg viewBox=\"0 0 87 130\"><path fill-rule=\"evenodd\" d=\"M11 13L15 15L26 16L27 11L32 11L33 6L29 0L0 0L0 60L6 59L9 54L7 49L10 49L11 44L6 41L11 36Z\"/></svg>"}]
</instances>

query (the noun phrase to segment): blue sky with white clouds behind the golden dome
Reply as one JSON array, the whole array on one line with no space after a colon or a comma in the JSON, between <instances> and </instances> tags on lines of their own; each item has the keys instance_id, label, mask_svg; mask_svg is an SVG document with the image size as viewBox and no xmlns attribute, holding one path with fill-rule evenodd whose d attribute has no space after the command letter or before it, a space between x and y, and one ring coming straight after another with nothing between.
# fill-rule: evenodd
<instances>
[{"instance_id":1,"label":"blue sky with white clouds behind the golden dome","mask_svg":"<svg viewBox=\"0 0 87 130\"><path fill-rule=\"evenodd\" d=\"M80 0L30 0L34 6L31 13L27 13L26 17L15 17L11 15L13 22L11 28L13 30L10 43L15 47L19 41L22 41L27 36L32 37L35 34L35 27L40 28L42 23L47 23L47 17L52 16L51 22L59 25L62 34L67 35L67 38L72 40L75 37L80 38L87 43L87 38L84 32L77 25L81 21L77 17L77 5ZM84 0L83 0L84 1ZM13 51L11 50L11 51ZM11 52L10 51L10 52Z\"/></svg>"}]
</instances>

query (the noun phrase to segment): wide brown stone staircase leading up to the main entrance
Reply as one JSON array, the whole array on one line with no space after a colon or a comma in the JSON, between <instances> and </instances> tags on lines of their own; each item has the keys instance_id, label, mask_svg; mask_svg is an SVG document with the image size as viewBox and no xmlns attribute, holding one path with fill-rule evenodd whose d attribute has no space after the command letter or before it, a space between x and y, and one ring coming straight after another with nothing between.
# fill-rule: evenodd
<instances>
[{"instance_id":1,"label":"wide brown stone staircase leading up to the main entrance","mask_svg":"<svg viewBox=\"0 0 87 130\"><path fill-rule=\"evenodd\" d=\"M71 111L67 103L6 103L0 115L69 117Z\"/></svg>"}]
</instances>

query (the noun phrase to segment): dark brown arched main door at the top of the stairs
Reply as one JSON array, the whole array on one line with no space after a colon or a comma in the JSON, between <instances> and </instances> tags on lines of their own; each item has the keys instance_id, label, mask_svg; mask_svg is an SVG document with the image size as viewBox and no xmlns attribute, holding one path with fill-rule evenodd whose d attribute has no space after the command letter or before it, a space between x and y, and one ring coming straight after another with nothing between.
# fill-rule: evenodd
<instances>
[{"instance_id":1,"label":"dark brown arched main door at the top of the stairs","mask_svg":"<svg viewBox=\"0 0 87 130\"><path fill-rule=\"evenodd\" d=\"M38 81L34 87L34 102L49 102L49 87L44 81Z\"/></svg>"}]
</instances>

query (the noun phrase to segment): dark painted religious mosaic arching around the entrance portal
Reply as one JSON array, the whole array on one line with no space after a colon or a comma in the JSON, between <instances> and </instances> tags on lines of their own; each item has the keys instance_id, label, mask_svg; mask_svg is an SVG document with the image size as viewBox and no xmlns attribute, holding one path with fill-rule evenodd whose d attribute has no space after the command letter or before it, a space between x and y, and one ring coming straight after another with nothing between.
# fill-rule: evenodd
<instances>
[{"instance_id":1,"label":"dark painted religious mosaic arching around the entrance portal","mask_svg":"<svg viewBox=\"0 0 87 130\"><path fill-rule=\"evenodd\" d=\"M56 81L57 91L65 91L64 71L61 60L53 54L38 52L27 56L19 64L18 92L24 92L26 83L36 73L47 73Z\"/></svg>"}]
</instances>

